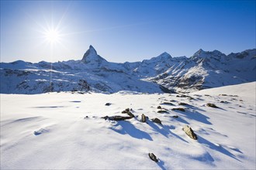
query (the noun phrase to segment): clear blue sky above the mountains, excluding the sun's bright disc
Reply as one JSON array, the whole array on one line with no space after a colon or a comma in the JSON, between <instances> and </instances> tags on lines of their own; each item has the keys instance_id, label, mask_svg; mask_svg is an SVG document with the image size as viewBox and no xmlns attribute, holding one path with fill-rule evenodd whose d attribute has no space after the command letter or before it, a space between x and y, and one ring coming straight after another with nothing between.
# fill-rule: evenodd
<instances>
[{"instance_id":1,"label":"clear blue sky above the mountains, excluding the sun's bright disc","mask_svg":"<svg viewBox=\"0 0 256 170\"><path fill-rule=\"evenodd\" d=\"M255 48L255 1L1 1L1 62L112 62ZM47 42L47 29L58 42Z\"/></svg>"}]
</instances>

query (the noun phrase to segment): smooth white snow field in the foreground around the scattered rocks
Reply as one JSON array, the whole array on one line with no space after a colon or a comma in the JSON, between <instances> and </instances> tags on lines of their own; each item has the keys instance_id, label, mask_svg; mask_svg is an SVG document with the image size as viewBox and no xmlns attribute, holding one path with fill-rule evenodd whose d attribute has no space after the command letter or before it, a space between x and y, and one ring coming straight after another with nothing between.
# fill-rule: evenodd
<instances>
[{"instance_id":1,"label":"smooth white snow field in the foreground around the scattered rocks","mask_svg":"<svg viewBox=\"0 0 256 170\"><path fill-rule=\"evenodd\" d=\"M255 83L187 94L193 99L129 91L1 94L1 169L255 169ZM128 121L101 118L126 116L128 107L135 115ZM155 117L162 125L150 121ZM198 140L182 131L186 124Z\"/></svg>"}]
</instances>

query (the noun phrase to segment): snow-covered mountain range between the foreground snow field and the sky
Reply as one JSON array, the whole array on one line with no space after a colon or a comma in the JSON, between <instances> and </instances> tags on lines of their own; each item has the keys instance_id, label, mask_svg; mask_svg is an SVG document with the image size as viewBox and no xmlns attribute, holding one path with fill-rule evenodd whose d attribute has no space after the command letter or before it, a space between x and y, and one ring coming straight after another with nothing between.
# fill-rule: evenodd
<instances>
[{"instance_id":1,"label":"snow-covered mountain range between the foreground snow field and the sky","mask_svg":"<svg viewBox=\"0 0 256 170\"><path fill-rule=\"evenodd\" d=\"M168 53L135 63L112 63L89 46L81 60L0 63L1 93L94 91L191 92L256 80L256 49L225 55L199 49L187 58Z\"/></svg>"}]
</instances>

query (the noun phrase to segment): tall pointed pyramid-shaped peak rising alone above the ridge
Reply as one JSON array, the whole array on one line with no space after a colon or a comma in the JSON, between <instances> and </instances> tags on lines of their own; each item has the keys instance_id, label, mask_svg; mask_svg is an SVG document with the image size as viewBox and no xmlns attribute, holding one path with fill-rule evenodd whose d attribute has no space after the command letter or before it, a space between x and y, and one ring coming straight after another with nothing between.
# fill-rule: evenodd
<instances>
[{"instance_id":1,"label":"tall pointed pyramid-shaped peak rising alone above the ridge","mask_svg":"<svg viewBox=\"0 0 256 170\"><path fill-rule=\"evenodd\" d=\"M89 49L87 49L87 51L85 52L85 55L81 59L81 62L82 63L101 64L103 62L106 62L106 59L103 59L101 56L99 56L97 51L95 50L95 48L92 45L90 45Z\"/></svg>"}]
</instances>

